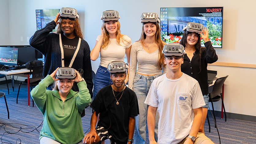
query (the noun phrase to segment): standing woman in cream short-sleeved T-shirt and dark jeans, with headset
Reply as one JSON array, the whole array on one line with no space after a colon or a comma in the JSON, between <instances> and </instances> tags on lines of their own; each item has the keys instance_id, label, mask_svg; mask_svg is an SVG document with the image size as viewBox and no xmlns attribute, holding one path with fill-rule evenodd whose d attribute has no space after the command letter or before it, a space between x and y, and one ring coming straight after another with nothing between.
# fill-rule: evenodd
<instances>
[{"instance_id":1,"label":"standing woman in cream short-sleeved T-shirt and dark jeans, with headset","mask_svg":"<svg viewBox=\"0 0 256 144\"><path fill-rule=\"evenodd\" d=\"M124 55L126 55L128 65L130 63L132 40L129 36L120 33L119 18L119 13L114 10L104 11L101 16L103 21L101 35L97 37L95 47L90 53L91 60L93 61L101 54L100 66L94 79L94 98L101 88L112 85L110 73L107 70L109 63L112 61L124 61ZM127 81L128 76L125 83Z\"/></svg>"}]
</instances>

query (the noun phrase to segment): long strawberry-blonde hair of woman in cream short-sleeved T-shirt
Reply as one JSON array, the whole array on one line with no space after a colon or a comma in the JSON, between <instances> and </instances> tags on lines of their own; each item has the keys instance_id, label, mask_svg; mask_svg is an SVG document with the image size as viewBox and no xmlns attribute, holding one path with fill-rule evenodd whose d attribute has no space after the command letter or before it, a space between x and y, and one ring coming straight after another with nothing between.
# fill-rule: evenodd
<instances>
[{"instance_id":1,"label":"long strawberry-blonde hair of woman in cream short-sleeved T-shirt","mask_svg":"<svg viewBox=\"0 0 256 144\"><path fill-rule=\"evenodd\" d=\"M110 43L110 41L109 41L109 32L108 32L107 29L106 29L106 23L105 23L105 22L102 24L101 28L102 28L102 31L103 31L103 33L104 33L104 38L103 38L103 42L102 42L102 44L101 44L101 47L105 50L105 49L108 48L108 45L109 45L109 43ZM124 36L124 35L122 35L121 32L120 32L120 22L117 21L116 38L117 38L117 43L118 43L118 45L121 45L121 44L120 44L120 40L123 41L123 42L124 42L124 41L128 42L127 40L124 39L123 36Z\"/></svg>"}]
</instances>

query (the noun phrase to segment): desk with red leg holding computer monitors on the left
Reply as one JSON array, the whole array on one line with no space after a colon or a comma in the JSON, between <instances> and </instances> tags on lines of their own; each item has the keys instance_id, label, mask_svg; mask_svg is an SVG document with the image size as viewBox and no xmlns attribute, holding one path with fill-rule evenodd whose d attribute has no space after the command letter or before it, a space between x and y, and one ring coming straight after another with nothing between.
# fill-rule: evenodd
<instances>
[{"instance_id":1,"label":"desk with red leg holding computer monitors on the left","mask_svg":"<svg viewBox=\"0 0 256 144\"><path fill-rule=\"evenodd\" d=\"M28 69L21 69L21 70L11 70L11 71L0 71L0 74L6 74L6 75L15 75L15 76L20 76L20 77L26 77L28 78L28 106L29 104L29 73L30 70ZM14 85L13 85L14 89Z\"/></svg>"}]
</instances>

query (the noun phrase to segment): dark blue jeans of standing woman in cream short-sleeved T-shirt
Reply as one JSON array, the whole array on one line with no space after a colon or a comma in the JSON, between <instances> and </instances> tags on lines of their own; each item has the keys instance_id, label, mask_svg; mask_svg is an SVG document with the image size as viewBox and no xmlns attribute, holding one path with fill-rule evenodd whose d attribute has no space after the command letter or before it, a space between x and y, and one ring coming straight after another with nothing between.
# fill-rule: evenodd
<instances>
[{"instance_id":1,"label":"dark blue jeans of standing woman in cream short-sleeved T-shirt","mask_svg":"<svg viewBox=\"0 0 256 144\"><path fill-rule=\"evenodd\" d=\"M93 99L96 97L100 89L112 84L113 82L110 79L110 73L108 69L103 66L99 66L95 74L95 79L93 84Z\"/></svg>"}]
</instances>

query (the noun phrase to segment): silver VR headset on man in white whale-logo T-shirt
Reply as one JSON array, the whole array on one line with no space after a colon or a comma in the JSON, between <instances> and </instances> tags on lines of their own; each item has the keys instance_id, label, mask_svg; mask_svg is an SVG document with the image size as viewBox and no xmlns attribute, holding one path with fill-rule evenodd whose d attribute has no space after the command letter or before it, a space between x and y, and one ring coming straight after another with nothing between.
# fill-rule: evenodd
<instances>
[{"instance_id":1,"label":"silver VR headset on man in white whale-logo T-shirt","mask_svg":"<svg viewBox=\"0 0 256 144\"><path fill-rule=\"evenodd\" d=\"M181 44L166 44L163 47L162 53L168 56L171 56L171 55L182 56L182 55L185 55L186 52L183 45Z\"/></svg>"}]
</instances>

